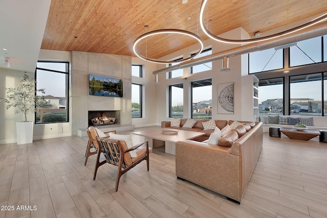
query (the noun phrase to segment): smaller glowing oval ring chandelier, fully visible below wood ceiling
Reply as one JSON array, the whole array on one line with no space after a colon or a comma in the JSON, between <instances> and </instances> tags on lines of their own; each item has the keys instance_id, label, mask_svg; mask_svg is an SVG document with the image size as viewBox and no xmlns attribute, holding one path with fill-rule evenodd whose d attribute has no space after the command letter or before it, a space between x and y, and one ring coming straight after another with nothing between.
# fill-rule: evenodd
<instances>
[{"instance_id":1,"label":"smaller glowing oval ring chandelier, fully visible below wood ceiling","mask_svg":"<svg viewBox=\"0 0 327 218\"><path fill-rule=\"evenodd\" d=\"M158 34L164 34L164 33L176 33L176 34L182 34L182 35L186 35L186 36L190 36L194 39L196 39L200 45L201 45L201 48L200 50L195 53L194 55L192 55L191 57L189 58L185 58L183 60L179 60L179 61L157 61L157 60L153 60L153 59L149 59L147 57L144 57L142 56L141 54L139 54L137 51L136 51L136 45L139 41L141 41L142 39L145 39L149 36L153 36L153 35L158 35ZM185 31L185 30L178 30L178 29L161 29L161 30L154 30L154 31L151 31L151 32L148 32L148 33L145 33L139 37L137 37L133 43L133 51L135 53L135 55L137 55L139 58L143 59L143 60L146 60L146 61L150 61L150 62L153 62L153 63L159 63L159 64L171 64L171 63L180 63L180 62L183 62L183 61L187 61L187 60L191 60L193 58L195 58L196 56L198 56L203 50L203 42L201 40L201 38L194 34L194 33L191 33L189 31Z\"/></svg>"}]
</instances>

